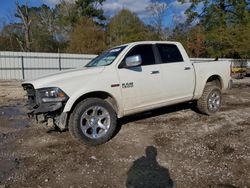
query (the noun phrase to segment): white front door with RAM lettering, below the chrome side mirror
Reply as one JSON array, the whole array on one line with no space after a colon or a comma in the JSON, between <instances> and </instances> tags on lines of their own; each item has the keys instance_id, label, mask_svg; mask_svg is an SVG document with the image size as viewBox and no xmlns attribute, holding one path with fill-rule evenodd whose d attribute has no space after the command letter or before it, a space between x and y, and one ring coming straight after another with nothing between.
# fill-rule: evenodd
<instances>
[{"instance_id":1,"label":"white front door with RAM lettering, below the chrome side mirror","mask_svg":"<svg viewBox=\"0 0 250 188\"><path fill-rule=\"evenodd\" d=\"M141 111L160 101L162 96L160 65L156 64L151 44L137 45L125 56L140 55L141 66L118 68L125 113ZM122 64L121 63L121 64ZM123 66L119 66L123 67Z\"/></svg>"}]
</instances>

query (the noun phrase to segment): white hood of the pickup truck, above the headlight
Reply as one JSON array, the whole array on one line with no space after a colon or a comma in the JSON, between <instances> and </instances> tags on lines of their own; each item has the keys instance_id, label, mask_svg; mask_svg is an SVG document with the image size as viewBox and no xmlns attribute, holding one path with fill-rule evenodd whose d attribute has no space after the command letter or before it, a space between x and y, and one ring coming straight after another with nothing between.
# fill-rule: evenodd
<instances>
[{"instance_id":1,"label":"white hood of the pickup truck, above the headlight","mask_svg":"<svg viewBox=\"0 0 250 188\"><path fill-rule=\"evenodd\" d=\"M93 74L96 75L102 72L104 69L105 67L83 67L79 69L46 75L34 80L28 80L23 82L22 84L32 84L35 89L43 87L55 87L58 85L62 85L69 80L71 80L71 83L74 84L74 78L77 78L77 80L79 80L79 78L84 80L84 78L91 77L90 75Z\"/></svg>"}]
</instances>

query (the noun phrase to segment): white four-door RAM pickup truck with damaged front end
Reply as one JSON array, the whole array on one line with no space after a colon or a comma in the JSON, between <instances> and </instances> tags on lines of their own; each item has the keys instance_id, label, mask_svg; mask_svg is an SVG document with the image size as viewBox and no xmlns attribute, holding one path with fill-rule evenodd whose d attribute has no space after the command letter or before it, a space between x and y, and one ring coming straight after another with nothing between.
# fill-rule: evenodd
<instances>
[{"instance_id":1,"label":"white four-door RAM pickup truck with damaged front end","mask_svg":"<svg viewBox=\"0 0 250 188\"><path fill-rule=\"evenodd\" d=\"M29 114L98 145L117 118L186 101L212 115L230 86L228 62L192 63L178 42L145 41L107 50L86 66L22 84Z\"/></svg>"}]
</instances>

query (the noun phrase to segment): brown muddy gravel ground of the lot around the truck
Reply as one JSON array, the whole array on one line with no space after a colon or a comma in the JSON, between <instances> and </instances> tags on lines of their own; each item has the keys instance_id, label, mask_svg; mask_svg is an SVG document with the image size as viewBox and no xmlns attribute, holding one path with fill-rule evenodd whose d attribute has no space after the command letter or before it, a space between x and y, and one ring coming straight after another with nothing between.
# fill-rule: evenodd
<instances>
[{"instance_id":1,"label":"brown muddy gravel ground of the lot around the truck","mask_svg":"<svg viewBox=\"0 0 250 188\"><path fill-rule=\"evenodd\" d=\"M25 115L18 82L0 82L0 188L250 187L250 79L200 115L182 104L123 119L88 148ZM146 153L145 153L146 152Z\"/></svg>"}]
</instances>

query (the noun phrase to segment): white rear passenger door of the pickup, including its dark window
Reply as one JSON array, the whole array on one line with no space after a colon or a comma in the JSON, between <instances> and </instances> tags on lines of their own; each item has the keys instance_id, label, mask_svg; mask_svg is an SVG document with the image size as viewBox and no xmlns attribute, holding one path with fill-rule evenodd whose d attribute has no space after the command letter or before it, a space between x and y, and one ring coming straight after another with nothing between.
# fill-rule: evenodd
<instances>
[{"instance_id":1,"label":"white rear passenger door of the pickup, including its dark window","mask_svg":"<svg viewBox=\"0 0 250 188\"><path fill-rule=\"evenodd\" d=\"M195 87L192 64L185 62L175 44L156 44L163 76L163 93L167 101L191 100Z\"/></svg>"}]
</instances>

